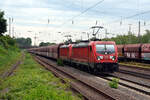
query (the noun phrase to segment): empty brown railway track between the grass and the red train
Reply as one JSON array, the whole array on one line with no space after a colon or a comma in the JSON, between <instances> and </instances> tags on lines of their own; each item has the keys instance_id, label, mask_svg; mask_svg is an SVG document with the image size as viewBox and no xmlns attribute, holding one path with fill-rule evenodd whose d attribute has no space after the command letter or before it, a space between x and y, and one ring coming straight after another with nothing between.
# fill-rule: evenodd
<instances>
[{"instance_id":1,"label":"empty brown railway track between the grass and the red train","mask_svg":"<svg viewBox=\"0 0 150 100\"><path fill-rule=\"evenodd\" d=\"M36 60L61 79L69 78L70 80L74 80L70 81L72 88L88 100L136 100L134 97L118 92L110 87L106 88L105 86L101 86L100 83L92 82L90 79L92 77L89 74L82 76L82 74L79 75L79 72L66 70L66 67L56 67L56 64L39 56L36 56Z\"/></svg>"}]
</instances>

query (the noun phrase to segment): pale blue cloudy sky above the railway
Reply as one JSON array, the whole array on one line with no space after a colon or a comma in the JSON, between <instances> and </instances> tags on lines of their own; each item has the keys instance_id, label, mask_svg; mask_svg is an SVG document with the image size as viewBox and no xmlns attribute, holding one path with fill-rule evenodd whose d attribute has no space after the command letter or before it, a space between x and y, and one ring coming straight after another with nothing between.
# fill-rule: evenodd
<instances>
[{"instance_id":1,"label":"pale blue cloudy sky above the railway","mask_svg":"<svg viewBox=\"0 0 150 100\"><path fill-rule=\"evenodd\" d=\"M110 33L107 37L125 35L129 26L131 32L138 35L139 21L144 34L144 30L150 29L149 5L149 0L0 0L5 18L13 19L10 34L30 37L36 45L60 43L67 40L67 35L71 35L73 41L86 40L87 34L92 37L91 27L96 23L104 27L98 38L105 38L106 30Z\"/></svg>"}]
</instances>

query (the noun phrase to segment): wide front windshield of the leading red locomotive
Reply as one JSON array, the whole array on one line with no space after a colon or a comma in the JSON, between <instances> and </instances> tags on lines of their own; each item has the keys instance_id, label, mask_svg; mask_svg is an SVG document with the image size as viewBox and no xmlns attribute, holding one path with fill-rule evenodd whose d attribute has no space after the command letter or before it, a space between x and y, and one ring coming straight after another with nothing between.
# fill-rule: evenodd
<instances>
[{"instance_id":1,"label":"wide front windshield of the leading red locomotive","mask_svg":"<svg viewBox=\"0 0 150 100\"><path fill-rule=\"evenodd\" d=\"M112 44L97 44L96 52L99 54L112 54L115 53L115 47Z\"/></svg>"}]
</instances>

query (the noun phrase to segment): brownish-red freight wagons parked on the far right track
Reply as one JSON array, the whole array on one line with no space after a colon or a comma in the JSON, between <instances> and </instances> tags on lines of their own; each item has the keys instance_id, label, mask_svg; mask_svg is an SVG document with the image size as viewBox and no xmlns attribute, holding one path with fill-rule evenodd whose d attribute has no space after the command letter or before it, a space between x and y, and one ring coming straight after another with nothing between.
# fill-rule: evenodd
<instances>
[{"instance_id":1,"label":"brownish-red freight wagons parked on the far right track","mask_svg":"<svg viewBox=\"0 0 150 100\"><path fill-rule=\"evenodd\" d=\"M117 45L119 60L136 60L150 63L150 43Z\"/></svg>"}]
</instances>

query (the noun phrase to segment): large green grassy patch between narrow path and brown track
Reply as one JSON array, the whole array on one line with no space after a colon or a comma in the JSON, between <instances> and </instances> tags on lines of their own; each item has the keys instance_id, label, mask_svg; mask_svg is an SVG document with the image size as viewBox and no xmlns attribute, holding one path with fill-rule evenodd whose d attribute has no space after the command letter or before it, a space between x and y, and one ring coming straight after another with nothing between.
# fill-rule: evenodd
<instances>
[{"instance_id":1,"label":"large green grassy patch between narrow path and brown track","mask_svg":"<svg viewBox=\"0 0 150 100\"><path fill-rule=\"evenodd\" d=\"M61 83L51 72L36 63L26 54L24 63L18 67L15 74L3 80L0 99L11 100L81 100L68 91L69 85Z\"/></svg>"}]
</instances>

